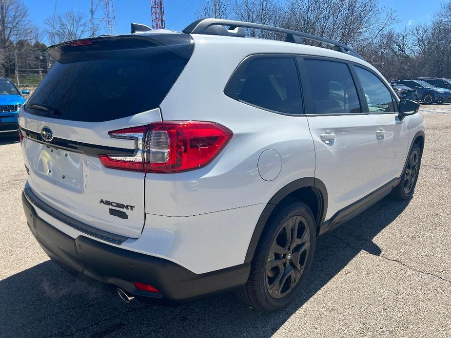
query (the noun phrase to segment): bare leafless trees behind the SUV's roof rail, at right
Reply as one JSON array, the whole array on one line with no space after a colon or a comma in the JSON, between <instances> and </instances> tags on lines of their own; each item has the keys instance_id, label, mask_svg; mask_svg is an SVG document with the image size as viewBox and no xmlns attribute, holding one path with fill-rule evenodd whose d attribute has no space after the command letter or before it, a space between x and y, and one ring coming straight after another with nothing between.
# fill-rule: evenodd
<instances>
[{"instance_id":1,"label":"bare leafless trees behind the SUV's roof rail, at right","mask_svg":"<svg viewBox=\"0 0 451 338\"><path fill-rule=\"evenodd\" d=\"M451 78L451 0L431 23L394 31L392 10L377 0L203 0L197 18L216 17L274 25L351 45L388 79ZM247 30L256 38L284 38ZM309 42L314 45L321 45Z\"/></svg>"}]
</instances>

